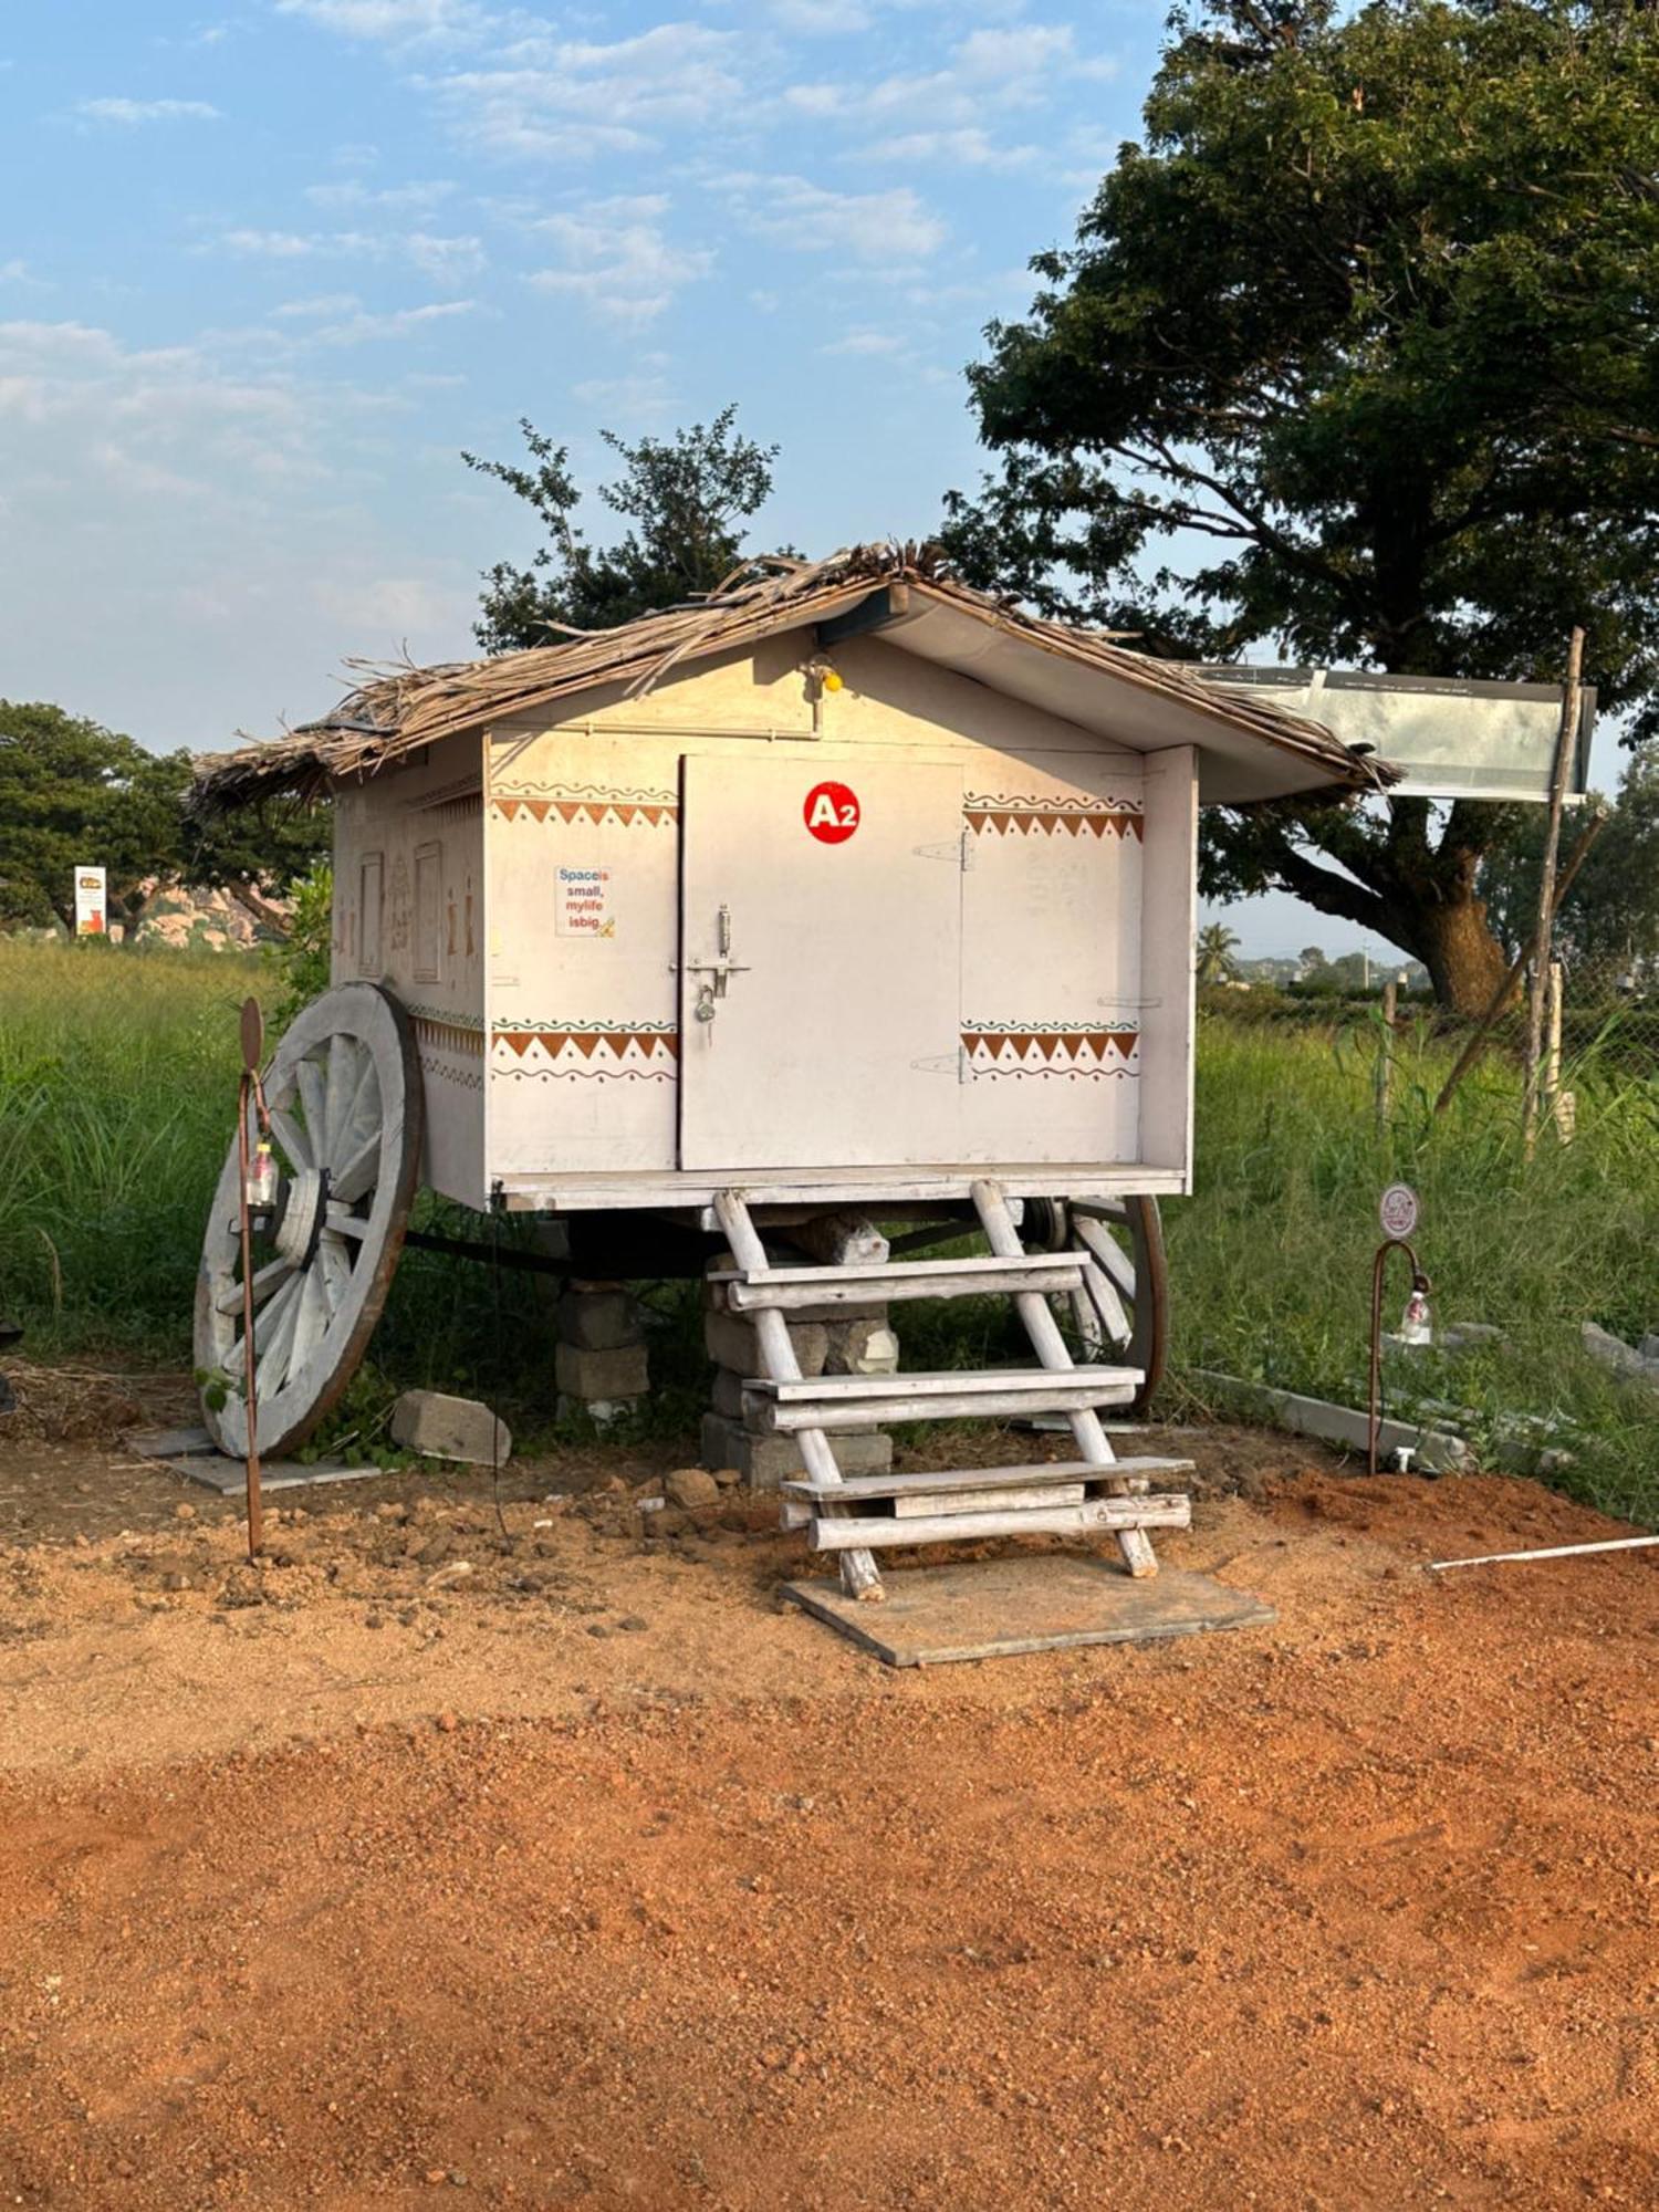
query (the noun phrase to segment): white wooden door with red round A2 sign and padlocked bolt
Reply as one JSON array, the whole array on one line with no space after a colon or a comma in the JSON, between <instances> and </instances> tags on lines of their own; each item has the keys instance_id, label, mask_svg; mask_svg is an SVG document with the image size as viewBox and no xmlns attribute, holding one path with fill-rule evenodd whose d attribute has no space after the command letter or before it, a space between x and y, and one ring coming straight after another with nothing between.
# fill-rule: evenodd
<instances>
[{"instance_id":1,"label":"white wooden door with red round A2 sign and padlocked bolt","mask_svg":"<svg viewBox=\"0 0 1659 2212\"><path fill-rule=\"evenodd\" d=\"M686 759L679 1161L953 1159L962 772Z\"/></svg>"}]
</instances>

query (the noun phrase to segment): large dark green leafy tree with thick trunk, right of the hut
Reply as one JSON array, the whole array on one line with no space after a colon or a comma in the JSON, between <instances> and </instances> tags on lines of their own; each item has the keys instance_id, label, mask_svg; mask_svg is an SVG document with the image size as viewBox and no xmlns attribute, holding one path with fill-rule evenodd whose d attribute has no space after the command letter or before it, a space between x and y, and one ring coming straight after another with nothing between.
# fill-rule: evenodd
<instances>
[{"instance_id":1,"label":"large dark green leafy tree with thick trunk, right of the hut","mask_svg":"<svg viewBox=\"0 0 1659 2212\"><path fill-rule=\"evenodd\" d=\"M969 372L1002 456L969 575L1152 650L1559 681L1659 672L1659 15L1635 0L1177 13L1044 288ZM1214 896L1502 975L1500 810L1208 816Z\"/></svg>"}]
</instances>

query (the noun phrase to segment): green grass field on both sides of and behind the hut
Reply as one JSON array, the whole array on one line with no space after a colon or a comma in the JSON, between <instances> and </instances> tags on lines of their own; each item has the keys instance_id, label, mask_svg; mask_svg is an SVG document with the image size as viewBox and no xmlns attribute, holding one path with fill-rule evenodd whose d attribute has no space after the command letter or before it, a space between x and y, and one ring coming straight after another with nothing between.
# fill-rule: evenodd
<instances>
[{"instance_id":1,"label":"green grass field on both sides of and behind the hut","mask_svg":"<svg viewBox=\"0 0 1659 2212\"><path fill-rule=\"evenodd\" d=\"M0 940L0 1307L24 1321L35 1356L188 1360L201 1210L234 1124L248 991L283 995L257 956ZM1405 1177L1422 1194L1436 1318L1506 1332L1455 1367L1413 1367L1420 1389L1473 1413L1482 1442L1515 1413L1568 1425L1564 1480L1659 1520L1652 1402L1579 1349L1582 1321L1626 1338L1659 1329L1659 1084L1582 1057L1568 1071L1575 1144L1546 1137L1526 1164L1506 1062L1480 1068L1433 1119L1444 1040L1400 1051L1378 1133L1374 1040L1365 1022L1201 1022L1197 1194L1166 1208L1172 1398L1183 1374L1221 1369L1363 1402L1376 1197ZM653 1298L653 1360L668 1385L653 1420L688 1427L701 1391L695 1298L684 1285ZM1389 1325L1402 1298L1400 1272ZM445 1383L546 1422L549 1303L533 1276L405 1254L349 1418L374 1422L392 1383ZM914 1316L914 1329L945 1325ZM956 1325L984 1329L984 1316ZM947 1349L929 1345L929 1358ZM964 1343L960 1356L980 1349Z\"/></svg>"}]
</instances>

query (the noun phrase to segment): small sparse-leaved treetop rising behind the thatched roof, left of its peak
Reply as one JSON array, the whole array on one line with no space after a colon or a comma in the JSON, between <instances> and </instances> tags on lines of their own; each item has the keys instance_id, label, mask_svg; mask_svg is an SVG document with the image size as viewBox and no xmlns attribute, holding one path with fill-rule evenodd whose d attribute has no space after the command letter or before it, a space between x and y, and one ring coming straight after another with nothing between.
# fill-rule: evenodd
<instances>
[{"instance_id":1,"label":"small sparse-leaved treetop rising behind the thatched roof, left of its peak","mask_svg":"<svg viewBox=\"0 0 1659 2212\"><path fill-rule=\"evenodd\" d=\"M515 491L544 531L529 568L498 562L484 575L473 626L484 653L551 646L571 630L608 630L712 591L743 557L743 526L770 495L779 456L774 445L741 436L737 407L637 445L599 431L622 460L622 476L599 484L599 500L628 529L595 549L575 526L582 489L568 447L553 445L529 420L520 431L529 467L460 456Z\"/></svg>"}]
</instances>

